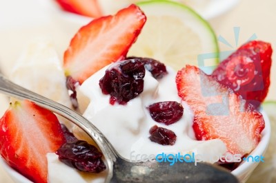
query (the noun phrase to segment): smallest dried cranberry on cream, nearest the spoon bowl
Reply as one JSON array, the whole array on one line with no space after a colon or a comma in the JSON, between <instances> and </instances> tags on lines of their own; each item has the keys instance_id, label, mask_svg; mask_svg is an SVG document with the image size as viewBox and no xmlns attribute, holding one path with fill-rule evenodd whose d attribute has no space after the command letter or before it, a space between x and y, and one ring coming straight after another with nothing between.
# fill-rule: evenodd
<instances>
[{"instance_id":1,"label":"smallest dried cranberry on cream, nearest the spoon bowl","mask_svg":"<svg viewBox=\"0 0 276 183\"><path fill-rule=\"evenodd\" d=\"M161 145L173 145L177 136L173 131L155 125L150 128L150 140Z\"/></svg>"}]
</instances>

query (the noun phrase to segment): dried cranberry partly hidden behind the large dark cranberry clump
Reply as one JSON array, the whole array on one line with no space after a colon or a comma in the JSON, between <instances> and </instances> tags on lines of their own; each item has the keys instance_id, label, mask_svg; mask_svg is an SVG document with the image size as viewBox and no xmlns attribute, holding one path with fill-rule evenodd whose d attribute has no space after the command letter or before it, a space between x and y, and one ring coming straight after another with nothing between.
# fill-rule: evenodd
<instances>
[{"instance_id":1,"label":"dried cranberry partly hidden behind the large dark cranberry clump","mask_svg":"<svg viewBox=\"0 0 276 183\"><path fill-rule=\"evenodd\" d=\"M156 79L163 78L163 76L168 74L164 63L161 63L153 58L142 58L142 57L130 56L130 57L128 57L128 59L137 59L141 63L144 63L144 66L146 67L146 69Z\"/></svg>"}]
</instances>

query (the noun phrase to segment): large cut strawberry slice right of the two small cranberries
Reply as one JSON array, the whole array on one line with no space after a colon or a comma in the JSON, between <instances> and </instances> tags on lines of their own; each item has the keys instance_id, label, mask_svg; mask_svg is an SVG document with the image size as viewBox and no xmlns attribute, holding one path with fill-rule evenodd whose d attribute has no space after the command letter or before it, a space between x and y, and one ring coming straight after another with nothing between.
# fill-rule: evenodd
<instances>
[{"instance_id":1,"label":"large cut strawberry slice right of the two small cranberries","mask_svg":"<svg viewBox=\"0 0 276 183\"><path fill-rule=\"evenodd\" d=\"M241 155L257 146L264 119L252 105L197 67L181 69L176 82L179 96L194 111L197 140L219 138L230 153Z\"/></svg>"}]
</instances>

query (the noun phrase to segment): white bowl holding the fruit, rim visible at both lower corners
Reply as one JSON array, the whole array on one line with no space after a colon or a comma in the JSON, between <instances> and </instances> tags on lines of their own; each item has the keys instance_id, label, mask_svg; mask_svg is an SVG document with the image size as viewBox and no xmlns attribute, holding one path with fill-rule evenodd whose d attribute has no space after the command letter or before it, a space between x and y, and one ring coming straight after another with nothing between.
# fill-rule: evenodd
<instances>
[{"instance_id":1,"label":"white bowl holding the fruit, rim visible at both lower corners","mask_svg":"<svg viewBox=\"0 0 276 183\"><path fill-rule=\"evenodd\" d=\"M250 153L250 155L264 155L266 152L266 149L268 147L269 139L270 139L270 121L268 119L268 116L264 111L262 111L262 114L264 116L264 121L266 127L262 131L262 138L257 147ZM3 166L3 168L6 170L6 172L10 175L12 180L14 182L18 183L30 183L30 180L28 180L23 175L19 174L17 171L14 171L14 169L10 168L6 162L4 162L2 159L0 160L0 164ZM233 175L237 177L237 179L240 182L246 182L248 180L248 177L250 177L251 173L254 171L254 169L257 167L259 162L242 162L237 169L232 171Z\"/></svg>"}]
</instances>

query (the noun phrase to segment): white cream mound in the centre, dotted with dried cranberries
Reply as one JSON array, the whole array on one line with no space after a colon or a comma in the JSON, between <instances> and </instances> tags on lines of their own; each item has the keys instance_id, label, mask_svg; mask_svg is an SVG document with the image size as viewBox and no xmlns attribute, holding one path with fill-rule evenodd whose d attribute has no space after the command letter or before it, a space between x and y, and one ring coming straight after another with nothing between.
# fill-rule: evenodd
<instances>
[{"instance_id":1,"label":"white cream mound in the centre, dotted with dried cranberries","mask_svg":"<svg viewBox=\"0 0 276 183\"><path fill-rule=\"evenodd\" d=\"M130 160L133 155L141 156L141 154L194 152L195 154L222 155L226 153L226 146L221 140L195 140L192 129L193 111L179 98L175 83L176 72L170 67L167 66L168 74L159 80L153 78L150 72L146 71L144 92L126 105L117 103L110 105L110 95L101 92L99 80L104 76L108 67L110 65L88 78L81 85L79 92L82 92L90 100L83 116L103 132L121 156ZM184 107L182 118L172 125L164 125L152 120L146 107L162 101L181 103ZM151 142L149 130L154 125L175 132L177 135L175 144L163 146Z\"/></svg>"}]
</instances>

